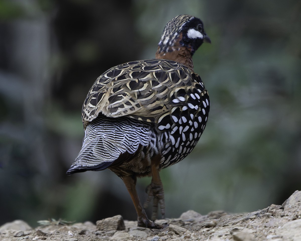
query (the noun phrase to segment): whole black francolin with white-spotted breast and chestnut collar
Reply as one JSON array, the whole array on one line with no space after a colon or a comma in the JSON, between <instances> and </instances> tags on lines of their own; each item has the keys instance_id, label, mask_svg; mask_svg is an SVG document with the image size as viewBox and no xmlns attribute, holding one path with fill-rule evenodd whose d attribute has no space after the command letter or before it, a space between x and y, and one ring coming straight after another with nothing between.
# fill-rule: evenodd
<instances>
[{"instance_id":1,"label":"whole black francolin with white-spotted breast and chestnut collar","mask_svg":"<svg viewBox=\"0 0 301 241\"><path fill-rule=\"evenodd\" d=\"M154 59L130 61L105 71L82 106L85 136L67 174L113 171L129 191L139 227L164 227L154 222L159 208L165 218L160 170L184 159L206 127L209 95L192 62L203 42L211 40L199 18L172 18ZM152 181L143 206L136 181L145 176ZM144 210L150 202L151 219Z\"/></svg>"}]
</instances>

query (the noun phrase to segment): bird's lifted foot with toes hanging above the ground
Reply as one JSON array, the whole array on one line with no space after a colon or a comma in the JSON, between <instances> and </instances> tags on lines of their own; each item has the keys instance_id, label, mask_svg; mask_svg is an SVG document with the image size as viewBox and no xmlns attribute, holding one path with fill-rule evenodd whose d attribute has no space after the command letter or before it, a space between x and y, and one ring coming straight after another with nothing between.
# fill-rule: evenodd
<instances>
[{"instance_id":1,"label":"bird's lifted foot with toes hanging above the ground","mask_svg":"<svg viewBox=\"0 0 301 241\"><path fill-rule=\"evenodd\" d=\"M147 186L146 192L148 193L148 198L144 203L144 208L147 208L149 202L153 200L153 215L151 220L155 221L157 219L158 203L160 205L162 218L165 218L164 190L162 183L155 184L152 182L150 185Z\"/></svg>"}]
</instances>

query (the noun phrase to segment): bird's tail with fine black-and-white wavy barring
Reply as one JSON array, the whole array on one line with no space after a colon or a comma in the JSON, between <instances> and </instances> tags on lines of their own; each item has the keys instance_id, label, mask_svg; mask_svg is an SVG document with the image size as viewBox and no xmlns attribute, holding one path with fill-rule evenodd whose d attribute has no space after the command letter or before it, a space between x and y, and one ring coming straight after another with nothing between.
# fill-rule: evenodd
<instances>
[{"instance_id":1,"label":"bird's tail with fine black-and-white wavy barring","mask_svg":"<svg viewBox=\"0 0 301 241\"><path fill-rule=\"evenodd\" d=\"M150 125L128 117L98 117L85 130L82 149L67 174L100 171L132 158L149 145Z\"/></svg>"}]
</instances>

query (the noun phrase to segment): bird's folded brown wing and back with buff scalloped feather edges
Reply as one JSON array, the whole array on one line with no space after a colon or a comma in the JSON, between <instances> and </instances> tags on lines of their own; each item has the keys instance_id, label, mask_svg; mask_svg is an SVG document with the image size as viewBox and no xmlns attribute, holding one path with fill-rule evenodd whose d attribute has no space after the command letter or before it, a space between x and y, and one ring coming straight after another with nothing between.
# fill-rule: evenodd
<instances>
[{"instance_id":1,"label":"bird's folded brown wing and back with buff scalloped feather edges","mask_svg":"<svg viewBox=\"0 0 301 241\"><path fill-rule=\"evenodd\" d=\"M174 106L182 105L182 101L174 101L179 89L187 92L195 88L192 75L197 76L171 60L141 60L115 66L98 77L90 89L82 107L84 127L99 114L158 123Z\"/></svg>"}]
</instances>

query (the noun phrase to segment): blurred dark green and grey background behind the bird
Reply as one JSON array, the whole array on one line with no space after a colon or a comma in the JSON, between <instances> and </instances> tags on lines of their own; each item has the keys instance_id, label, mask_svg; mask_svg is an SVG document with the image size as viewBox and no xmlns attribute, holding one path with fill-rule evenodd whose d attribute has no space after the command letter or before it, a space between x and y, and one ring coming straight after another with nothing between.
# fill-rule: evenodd
<instances>
[{"instance_id":1,"label":"blurred dark green and grey background behind the bird","mask_svg":"<svg viewBox=\"0 0 301 241\"><path fill-rule=\"evenodd\" d=\"M301 1L0 0L0 225L136 220L113 173L65 172L96 78L154 58L178 14L202 19L211 38L194 55L211 110L194 151L161 172L166 217L255 211L300 189ZM149 182L138 181L142 202Z\"/></svg>"}]
</instances>

